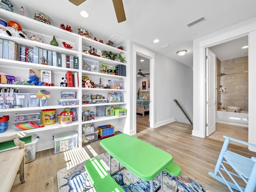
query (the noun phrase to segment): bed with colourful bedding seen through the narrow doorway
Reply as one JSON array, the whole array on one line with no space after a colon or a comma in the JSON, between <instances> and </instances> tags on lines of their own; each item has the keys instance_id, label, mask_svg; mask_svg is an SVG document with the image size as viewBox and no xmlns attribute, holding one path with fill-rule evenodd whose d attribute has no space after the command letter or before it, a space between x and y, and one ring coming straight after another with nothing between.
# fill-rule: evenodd
<instances>
[{"instance_id":1,"label":"bed with colourful bedding seen through the narrow doorway","mask_svg":"<svg viewBox=\"0 0 256 192\"><path fill-rule=\"evenodd\" d=\"M136 100L136 113L144 117L145 112L149 112L149 99L149 91L141 93L141 97Z\"/></svg>"}]
</instances>

